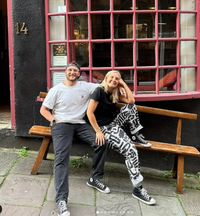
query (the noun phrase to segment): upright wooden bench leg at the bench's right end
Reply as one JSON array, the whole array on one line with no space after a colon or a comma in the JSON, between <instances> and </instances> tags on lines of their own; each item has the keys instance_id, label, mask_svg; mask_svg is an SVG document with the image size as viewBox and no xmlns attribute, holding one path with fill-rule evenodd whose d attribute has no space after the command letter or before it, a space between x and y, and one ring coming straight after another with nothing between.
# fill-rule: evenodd
<instances>
[{"instance_id":1,"label":"upright wooden bench leg at the bench's right end","mask_svg":"<svg viewBox=\"0 0 200 216\"><path fill-rule=\"evenodd\" d=\"M177 170L177 193L183 193L183 175L184 175L184 156L178 156L178 170Z\"/></svg>"}]
</instances>

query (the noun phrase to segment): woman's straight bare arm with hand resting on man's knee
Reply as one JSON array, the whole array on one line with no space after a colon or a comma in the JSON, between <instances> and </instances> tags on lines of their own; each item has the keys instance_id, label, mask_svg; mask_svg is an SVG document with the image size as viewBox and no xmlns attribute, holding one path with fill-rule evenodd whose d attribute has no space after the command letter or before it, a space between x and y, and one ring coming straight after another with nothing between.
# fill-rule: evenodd
<instances>
[{"instance_id":1,"label":"woman's straight bare arm with hand resting on man's knee","mask_svg":"<svg viewBox=\"0 0 200 216\"><path fill-rule=\"evenodd\" d=\"M105 144L105 136L104 134L101 132L101 129L97 123L96 117L94 115L94 111L97 108L98 105L98 101L95 101L93 99L90 99L89 105L88 105L88 109L87 109L87 116L88 119L90 121L90 124L92 125L93 129L96 132L96 143L98 145L104 145Z\"/></svg>"}]
</instances>

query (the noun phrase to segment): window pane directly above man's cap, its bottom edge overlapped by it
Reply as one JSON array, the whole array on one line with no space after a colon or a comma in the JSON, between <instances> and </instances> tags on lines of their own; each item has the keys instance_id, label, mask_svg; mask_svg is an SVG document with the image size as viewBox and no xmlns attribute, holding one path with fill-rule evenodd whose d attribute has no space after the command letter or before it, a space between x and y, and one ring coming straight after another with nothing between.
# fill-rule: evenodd
<instances>
[{"instance_id":1,"label":"window pane directly above man's cap, its bottom edge overlapped by it","mask_svg":"<svg viewBox=\"0 0 200 216\"><path fill-rule=\"evenodd\" d=\"M89 62L88 43L70 43L70 57L79 65Z\"/></svg>"}]
</instances>

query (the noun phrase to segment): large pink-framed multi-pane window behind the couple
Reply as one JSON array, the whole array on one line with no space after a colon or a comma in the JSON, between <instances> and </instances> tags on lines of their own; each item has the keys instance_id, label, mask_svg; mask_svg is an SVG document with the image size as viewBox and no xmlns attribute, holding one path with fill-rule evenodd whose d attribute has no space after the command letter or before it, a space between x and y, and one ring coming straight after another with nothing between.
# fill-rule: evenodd
<instances>
[{"instance_id":1,"label":"large pink-framed multi-pane window behind the couple","mask_svg":"<svg viewBox=\"0 0 200 216\"><path fill-rule=\"evenodd\" d=\"M48 87L116 69L137 100L200 97L199 0L45 0Z\"/></svg>"}]
</instances>

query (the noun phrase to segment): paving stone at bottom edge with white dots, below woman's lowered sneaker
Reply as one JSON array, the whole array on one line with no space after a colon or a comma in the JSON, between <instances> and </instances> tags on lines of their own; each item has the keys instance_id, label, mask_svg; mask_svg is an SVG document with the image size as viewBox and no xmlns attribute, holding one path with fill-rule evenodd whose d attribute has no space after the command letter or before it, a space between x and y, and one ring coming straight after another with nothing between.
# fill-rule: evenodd
<instances>
[{"instance_id":1,"label":"paving stone at bottom edge with white dots, below woman's lowered sneaker","mask_svg":"<svg viewBox=\"0 0 200 216\"><path fill-rule=\"evenodd\" d=\"M96 195L97 216L141 216L138 201L131 194L112 192Z\"/></svg>"}]
</instances>

